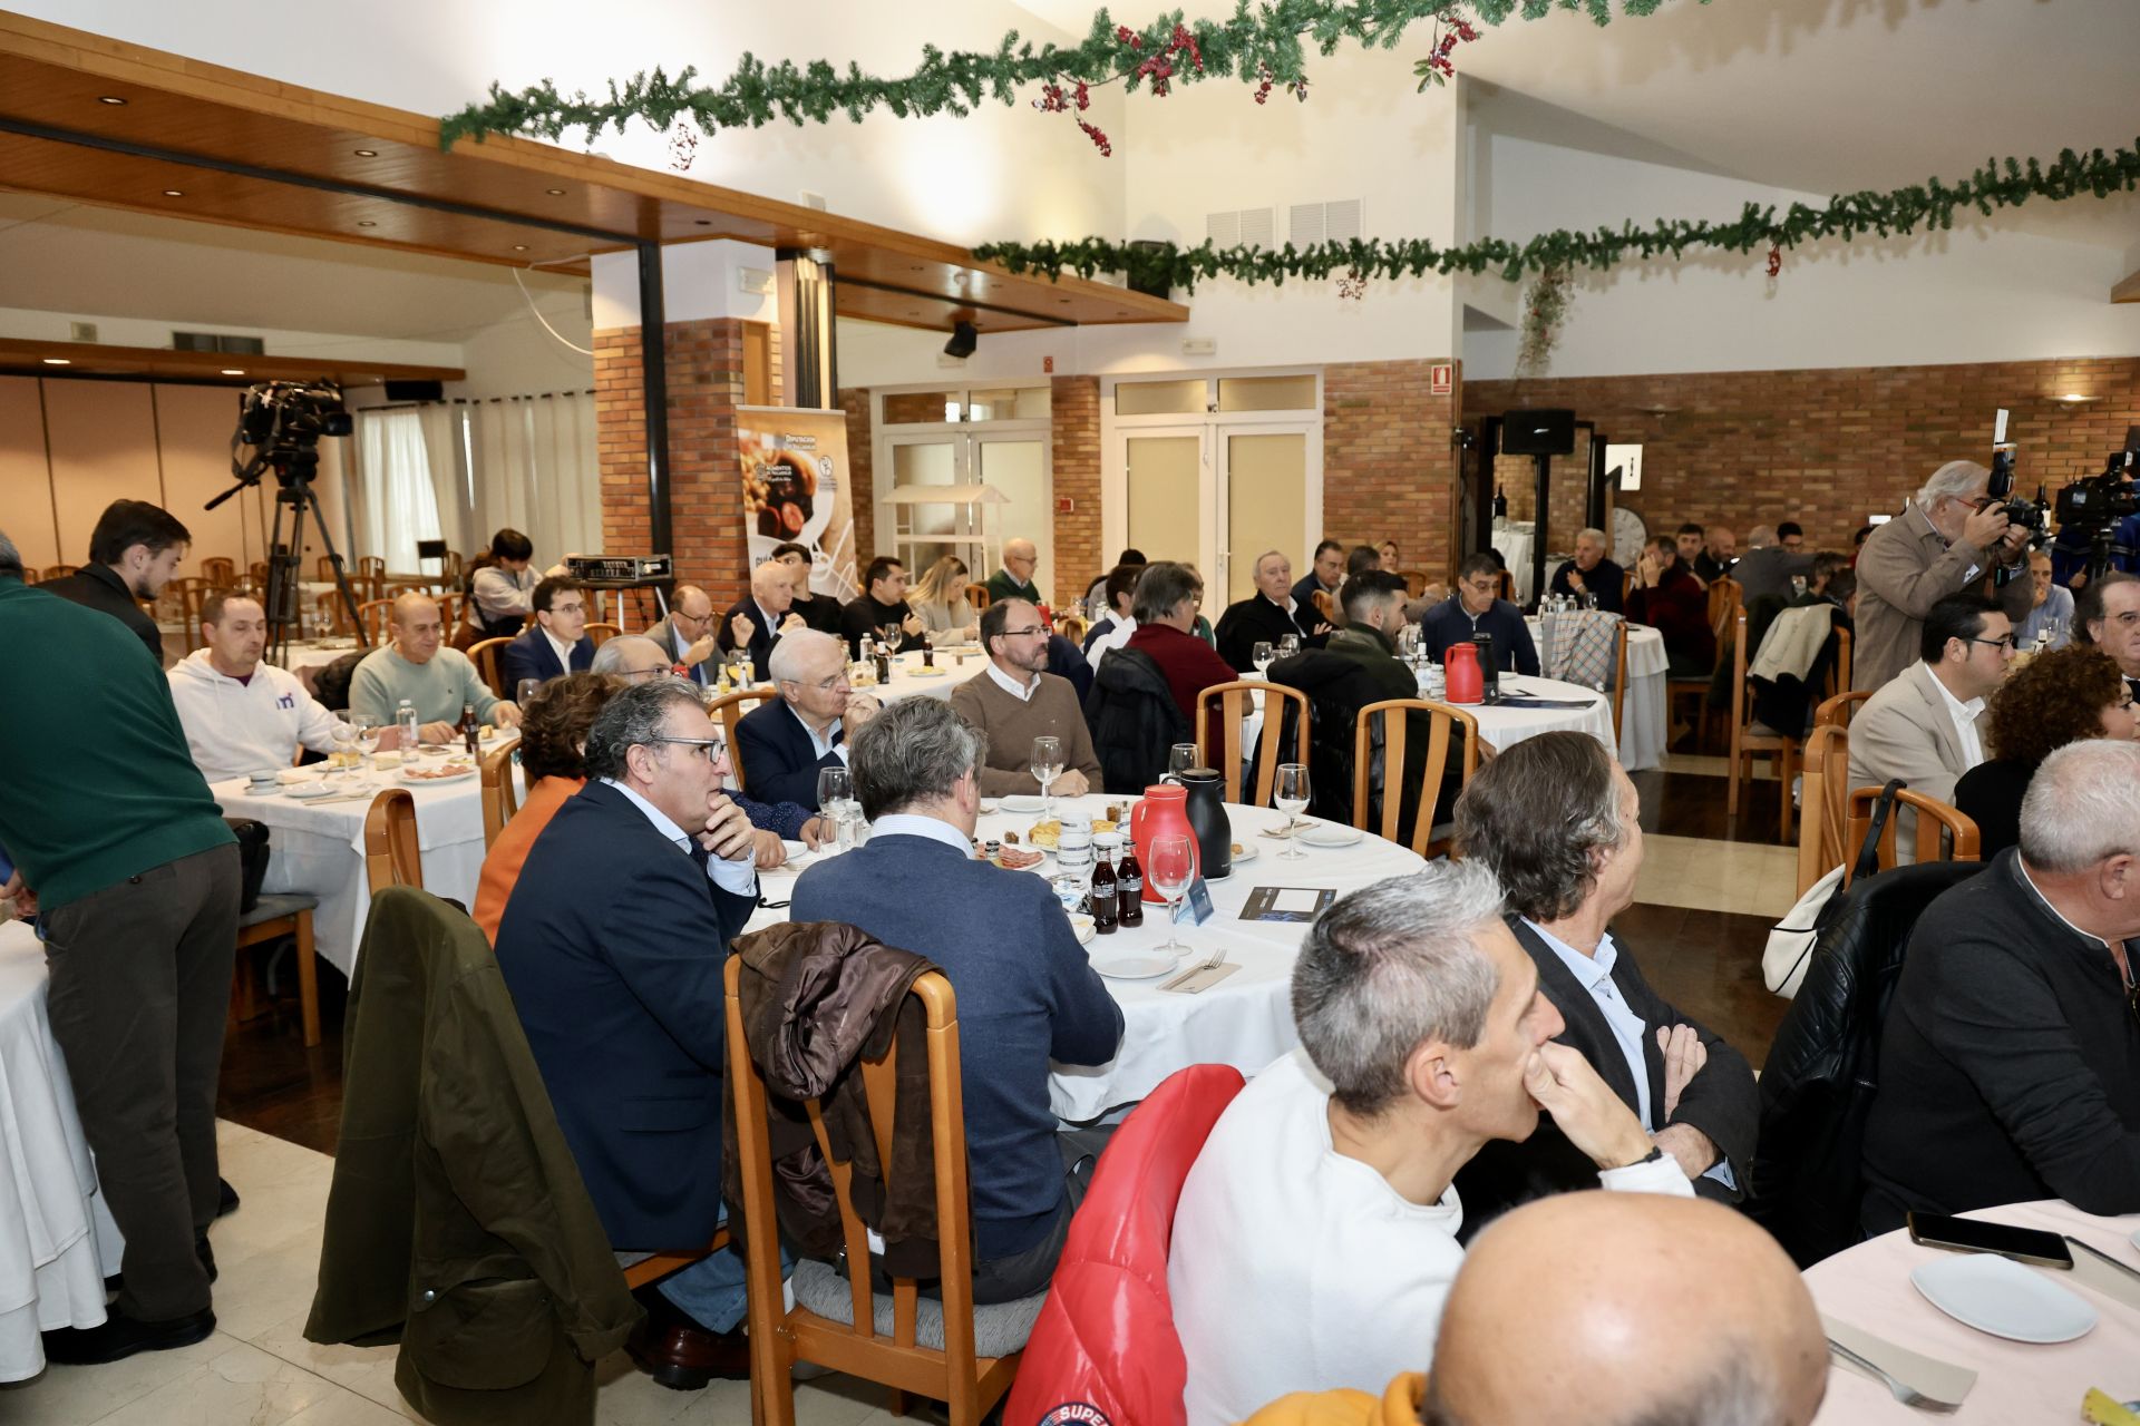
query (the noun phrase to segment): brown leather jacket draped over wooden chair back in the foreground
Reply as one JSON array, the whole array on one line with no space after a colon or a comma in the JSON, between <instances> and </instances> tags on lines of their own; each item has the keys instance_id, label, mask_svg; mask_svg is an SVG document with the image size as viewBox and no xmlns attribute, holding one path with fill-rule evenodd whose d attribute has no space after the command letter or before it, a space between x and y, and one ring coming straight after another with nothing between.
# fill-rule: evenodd
<instances>
[{"instance_id":1,"label":"brown leather jacket draped over wooden chair back in the foreground","mask_svg":"<svg viewBox=\"0 0 2140 1426\"><path fill-rule=\"evenodd\" d=\"M880 945L839 921L788 921L734 941L743 958L738 998L751 1060L766 1080L773 1199L781 1231L807 1257L845 1246L832 1169L817 1152L805 1099L824 1101L826 1137L854 1165L854 1212L884 1238L892 1276L937 1276L935 1140L929 1131L929 1050L922 1007L907 988L927 958ZM897 1013L888 1016L886 1009ZM871 1131L860 1058L884 1058L899 1037L890 1191ZM721 1127L721 1184L730 1231L743 1231L743 1154L736 1120Z\"/></svg>"}]
</instances>

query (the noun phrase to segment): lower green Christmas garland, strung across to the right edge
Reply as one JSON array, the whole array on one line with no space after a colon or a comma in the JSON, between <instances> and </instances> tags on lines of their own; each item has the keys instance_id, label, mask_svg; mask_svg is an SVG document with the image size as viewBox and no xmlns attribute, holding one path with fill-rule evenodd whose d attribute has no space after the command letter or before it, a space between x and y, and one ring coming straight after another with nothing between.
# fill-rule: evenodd
<instances>
[{"instance_id":1,"label":"lower green Christmas garland, strung across to the right edge","mask_svg":"<svg viewBox=\"0 0 2140 1426\"><path fill-rule=\"evenodd\" d=\"M1348 276L1352 280L1419 278L1425 274L1483 274L1498 272L1517 282L1524 274L1592 267L1607 269L1633 259L1684 257L1688 248L1716 252L1770 250L1772 261L1785 248L1808 242L1840 237L1845 242L1860 233L1881 237L1909 235L1917 229L1952 229L1958 210L1992 214L2001 207L2020 207L2031 201L2063 203L2093 195L2106 199L2114 192L2140 188L2140 139L2134 148L2112 154L2089 150L2076 154L2063 150L2057 160L2044 165L2035 158L2027 162L1988 160L1960 184L1945 184L1937 177L1909 184L1894 192L1840 192L1823 207L1791 203L1778 212L1776 205L1746 203L1740 216L1729 222L1686 222L1680 218L1658 218L1648 227L1624 222L1616 229L1601 227L1588 233L1554 229L1539 233L1530 242L1515 244L1502 237L1481 237L1457 248L1442 248L1423 237L1406 242L1352 239L1327 242L1308 248L1213 248L1209 242L1196 248L1175 244L1128 244L1111 237L1085 237L1081 242L991 242L974 248L974 257L984 263L1002 263L1010 272L1040 272L1061 276L1074 272L1091 278L1100 272L1126 272L1141 289L1160 284L1194 291L1207 278L1235 278L1248 284L1282 284L1286 278L1329 278Z\"/></svg>"}]
</instances>

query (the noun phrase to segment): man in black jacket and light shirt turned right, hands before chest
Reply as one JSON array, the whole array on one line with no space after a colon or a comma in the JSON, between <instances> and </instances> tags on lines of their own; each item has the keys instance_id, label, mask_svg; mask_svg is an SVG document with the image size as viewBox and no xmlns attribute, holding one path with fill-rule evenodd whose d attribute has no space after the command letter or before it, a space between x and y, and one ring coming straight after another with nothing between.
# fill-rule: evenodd
<instances>
[{"instance_id":1,"label":"man in black jacket and light shirt turned right, hands before chest","mask_svg":"<svg viewBox=\"0 0 2140 1426\"><path fill-rule=\"evenodd\" d=\"M1558 1039L1584 1052L1695 1193L1738 1202L1761 1116L1753 1069L1658 996L1607 930L1635 900L1639 812L1635 785L1596 738L1541 733L1472 774L1457 844L1500 877L1509 928L1566 1020ZM1590 1159L1541 1125L1522 1144L1487 1144L1457 1174L1457 1191L1470 1225L1594 1178Z\"/></svg>"}]
</instances>

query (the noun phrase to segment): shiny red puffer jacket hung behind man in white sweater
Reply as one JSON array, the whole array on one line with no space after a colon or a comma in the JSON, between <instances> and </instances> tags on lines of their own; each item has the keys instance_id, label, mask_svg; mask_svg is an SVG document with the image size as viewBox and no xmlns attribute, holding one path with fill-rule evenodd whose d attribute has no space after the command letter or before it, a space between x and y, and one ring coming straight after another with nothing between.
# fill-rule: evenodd
<instances>
[{"instance_id":1,"label":"shiny red puffer jacket hung behind man in white sweater","mask_svg":"<svg viewBox=\"0 0 2140 1426\"><path fill-rule=\"evenodd\" d=\"M1190 1065L1109 1140L1025 1343L1004 1426L1183 1426L1188 1364L1166 1253L1181 1182L1241 1084L1230 1065Z\"/></svg>"}]
</instances>

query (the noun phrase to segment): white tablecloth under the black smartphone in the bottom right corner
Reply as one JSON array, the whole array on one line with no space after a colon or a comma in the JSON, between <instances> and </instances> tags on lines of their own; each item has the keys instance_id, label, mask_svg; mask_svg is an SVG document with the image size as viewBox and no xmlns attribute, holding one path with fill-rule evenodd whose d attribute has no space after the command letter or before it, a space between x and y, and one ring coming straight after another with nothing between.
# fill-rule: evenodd
<instances>
[{"instance_id":1,"label":"white tablecloth under the black smartphone in the bottom right corner","mask_svg":"<svg viewBox=\"0 0 2140 1426\"><path fill-rule=\"evenodd\" d=\"M2057 1199L2039 1204L2007 1204L1962 1214L2018 1227L2042 1227L2072 1234L2091 1249L2116 1261L2140 1268L2140 1249L2131 1236L2140 1214L2097 1219ZM1896 1229L1806 1270L1813 1302L1830 1317L1909 1347L1941 1362L1954 1362L1977 1373L1962 1409L1954 1415L1926 1417L1887 1394L1887 1388L1838 1366L1828 1377L1828 1400L1817 1417L1821 1426L1855 1422L2078 1422L2080 1396L2091 1385L2110 1392L2114 1400L2140 1398L2140 1308L2093 1291L2069 1272L2044 1272L2061 1287L2084 1298L2099 1315L2095 1330L2072 1343L2009 1343L1975 1328L1965 1328L1909 1285L1913 1268L1952 1257L1943 1249L1922 1249L1909 1234ZM2074 1257L2080 1257L2076 1253Z\"/></svg>"}]
</instances>

